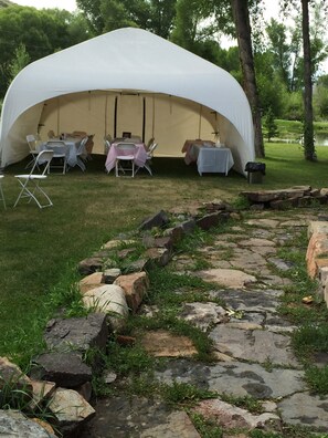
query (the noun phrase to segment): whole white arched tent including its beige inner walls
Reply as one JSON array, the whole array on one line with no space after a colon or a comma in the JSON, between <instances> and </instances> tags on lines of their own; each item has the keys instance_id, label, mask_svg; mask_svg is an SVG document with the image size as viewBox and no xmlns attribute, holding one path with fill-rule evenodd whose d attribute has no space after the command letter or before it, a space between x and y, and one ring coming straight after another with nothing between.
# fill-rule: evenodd
<instances>
[{"instance_id":1,"label":"whole white arched tent including its beige inner walls","mask_svg":"<svg viewBox=\"0 0 328 438\"><path fill-rule=\"evenodd\" d=\"M85 131L103 153L127 131L182 156L186 139L231 148L235 170L254 160L248 101L224 70L140 29L119 29L31 63L11 83L0 125L1 166L29 154L27 134ZM216 134L215 134L216 133Z\"/></svg>"}]
</instances>

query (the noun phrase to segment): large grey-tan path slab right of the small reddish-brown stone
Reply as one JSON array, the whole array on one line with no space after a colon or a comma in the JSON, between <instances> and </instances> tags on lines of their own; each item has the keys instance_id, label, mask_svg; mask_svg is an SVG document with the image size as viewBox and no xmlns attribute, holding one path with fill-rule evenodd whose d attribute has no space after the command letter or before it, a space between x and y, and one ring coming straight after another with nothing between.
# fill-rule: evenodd
<instances>
[{"instance_id":1,"label":"large grey-tan path slab right of the small reddish-brown stone","mask_svg":"<svg viewBox=\"0 0 328 438\"><path fill-rule=\"evenodd\" d=\"M299 366L289 336L264 330L244 331L218 325L210 337L215 350L234 358L283 366Z\"/></svg>"}]
</instances>

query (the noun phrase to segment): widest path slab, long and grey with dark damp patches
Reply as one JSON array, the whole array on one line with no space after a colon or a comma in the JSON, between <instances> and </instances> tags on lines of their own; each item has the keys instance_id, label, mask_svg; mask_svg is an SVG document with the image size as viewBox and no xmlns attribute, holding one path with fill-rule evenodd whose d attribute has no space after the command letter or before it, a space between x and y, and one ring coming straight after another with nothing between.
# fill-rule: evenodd
<instances>
[{"instance_id":1,"label":"widest path slab, long and grey with dark damp patches","mask_svg":"<svg viewBox=\"0 0 328 438\"><path fill-rule=\"evenodd\" d=\"M188 383L219 394L257 399L286 397L306 389L301 371L266 371L258 364L241 362L208 366L188 359L172 359L166 371L156 372L156 378L169 385L173 382Z\"/></svg>"}]
</instances>

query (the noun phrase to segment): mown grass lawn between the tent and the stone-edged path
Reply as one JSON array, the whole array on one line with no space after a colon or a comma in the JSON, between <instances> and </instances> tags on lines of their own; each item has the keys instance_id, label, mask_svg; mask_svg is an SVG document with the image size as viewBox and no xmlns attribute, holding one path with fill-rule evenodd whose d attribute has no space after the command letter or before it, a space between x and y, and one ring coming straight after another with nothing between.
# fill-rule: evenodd
<instances>
[{"instance_id":1,"label":"mown grass lawn between the tent and the stone-edged path","mask_svg":"<svg viewBox=\"0 0 328 438\"><path fill-rule=\"evenodd\" d=\"M232 202L242 190L328 187L328 147L317 154L318 163L310 163L299 145L267 144L267 171L257 186L233 171L200 177L182 158L155 158L154 177L139 171L135 179L116 178L105 174L105 157L95 156L86 173L74 168L47 178L44 187L54 206L43 210L24 200L12 208L19 192L13 175L27 161L10 166L3 179L7 211L0 206L0 355L29 363L41 347L45 322L65 294L67 301L72 296L77 262L119 232L160 209L220 198Z\"/></svg>"}]
</instances>

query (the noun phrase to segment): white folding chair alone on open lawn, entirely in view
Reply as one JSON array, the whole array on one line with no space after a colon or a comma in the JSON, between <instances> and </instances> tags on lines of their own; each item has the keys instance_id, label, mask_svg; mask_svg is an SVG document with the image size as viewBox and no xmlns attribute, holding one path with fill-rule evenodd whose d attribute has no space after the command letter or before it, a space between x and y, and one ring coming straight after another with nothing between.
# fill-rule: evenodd
<instances>
[{"instance_id":1,"label":"white folding chair alone on open lawn, entirely in view","mask_svg":"<svg viewBox=\"0 0 328 438\"><path fill-rule=\"evenodd\" d=\"M40 187L41 181L46 178L46 173L52 157L53 150L42 150L41 153L39 153L30 174L15 175L15 178L18 178L18 181L20 182L22 189L13 207L15 207L22 198L29 198L29 202L34 199L39 208L51 207L53 205L50 197L46 195L43 188ZM44 166L42 174L34 174L35 168L40 168L41 166ZM45 204L41 204L41 201L36 197L39 195L43 196L46 199Z\"/></svg>"}]
</instances>

